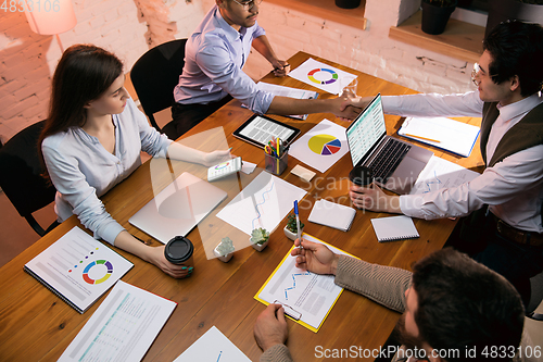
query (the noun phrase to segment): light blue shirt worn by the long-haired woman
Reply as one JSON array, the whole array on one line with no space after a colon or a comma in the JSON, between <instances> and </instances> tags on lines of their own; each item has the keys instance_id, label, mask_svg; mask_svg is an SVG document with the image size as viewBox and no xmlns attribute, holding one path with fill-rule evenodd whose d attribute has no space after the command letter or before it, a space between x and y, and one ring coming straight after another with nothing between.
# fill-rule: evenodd
<instances>
[{"instance_id":1,"label":"light blue shirt worn by the long-haired woman","mask_svg":"<svg viewBox=\"0 0 543 362\"><path fill-rule=\"evenodd\" d=\"M141 164L140 152L165 157L172 143L149 123L131 99L121 114L113 115L115 154L97 137L72 127L43 139L41 150L51 182L56 188L54 211L60 222L76 214L81 224L113 244L124 230L99 199Z\"/></svg>"}]
</instances>

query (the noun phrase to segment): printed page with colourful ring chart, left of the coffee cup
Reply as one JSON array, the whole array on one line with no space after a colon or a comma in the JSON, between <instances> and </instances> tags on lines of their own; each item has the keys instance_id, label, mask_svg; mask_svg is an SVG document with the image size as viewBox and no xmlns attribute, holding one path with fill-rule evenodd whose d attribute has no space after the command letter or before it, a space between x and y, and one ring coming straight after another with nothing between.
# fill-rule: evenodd
<instances>
[{"instance_id":1,"label":"printed page with colourful ring chart, left of the coffee cup","mask_svg":"<svg viewBox=\"0 0 543 362\"><path fill-rule=\"evenodd\" d=\"M134 264L77 226L25 264L25 272L79 313Z\"/></svg>"}]
</instances>

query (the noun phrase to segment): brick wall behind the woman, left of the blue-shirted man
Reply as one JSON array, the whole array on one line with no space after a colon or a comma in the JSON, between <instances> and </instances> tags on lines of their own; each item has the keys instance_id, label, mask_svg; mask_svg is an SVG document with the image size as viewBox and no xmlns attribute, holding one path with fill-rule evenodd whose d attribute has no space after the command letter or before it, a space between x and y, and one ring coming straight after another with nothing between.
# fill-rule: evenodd
<instances>
[{"instance_id":1,"label":"brick wall behind the woman, left of the blue-shirted man","mask_svg":"<svg viewBox=\"0 0 543 362\"><path fill-rule=\"evenodd\" d=\"M60 35L62 46L94 43L113 51L128 72L151 42L150 17L173 28L154 43L187 37L203 16L199 1L159 0L160 11L142 16L139 2L156 0L73 0L77 25ZM163 16L163 13L167 14ZM156 16L155 16L156 15ZM160 27L153 18L156 29ZM62 54L54 36L30 30L21 12L0 10L0 139L47 116L51 77Z\"/></svg>"}]
</instances>

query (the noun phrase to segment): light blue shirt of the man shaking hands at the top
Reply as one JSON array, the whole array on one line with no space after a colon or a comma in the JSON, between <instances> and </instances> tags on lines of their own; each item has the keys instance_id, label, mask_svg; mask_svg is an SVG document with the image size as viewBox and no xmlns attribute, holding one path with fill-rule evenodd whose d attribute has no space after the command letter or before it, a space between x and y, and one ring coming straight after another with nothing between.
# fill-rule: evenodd
<instances>
[{"instance_id":1,"label":"light blue shirt of the man shaking hands at the top","mask_svg":"<svg viewBox=\"0 0 543 362\"><path fill-rule=\"evenodd\" d=\"M274 96L258 90L241 70L253 39L262 35L257 23L237 32L213 7L187 41L185 67L174 89L176 102L206 104L230 95L251 111L266 113Z\"/></svg>"}]
</instances>

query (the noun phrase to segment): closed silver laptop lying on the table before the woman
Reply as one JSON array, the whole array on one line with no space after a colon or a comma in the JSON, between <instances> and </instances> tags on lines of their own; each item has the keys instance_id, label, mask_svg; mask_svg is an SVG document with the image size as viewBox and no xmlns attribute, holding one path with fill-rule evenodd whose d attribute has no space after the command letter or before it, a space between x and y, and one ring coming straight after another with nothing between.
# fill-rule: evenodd
<instances>
[{"instance_id":1,"label":"closed silver laptop lying on the table before the woman","mask_svg":"<svg viewBox=\"0 0 543 362\"><path fill-rule=\"evenodd\" d=\"M128 222L166 244L189 234L226 197L218 187L185 172Z\"/></svg>"}]
</instances>

